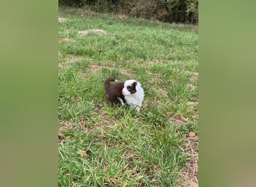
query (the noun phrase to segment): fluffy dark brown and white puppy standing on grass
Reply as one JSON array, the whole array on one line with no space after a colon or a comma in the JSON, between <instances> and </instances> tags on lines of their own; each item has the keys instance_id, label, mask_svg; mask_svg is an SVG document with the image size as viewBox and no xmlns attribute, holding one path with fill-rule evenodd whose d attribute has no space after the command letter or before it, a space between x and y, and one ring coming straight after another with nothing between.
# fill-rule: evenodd
<instances>
[{"instance_id":1,"label":"fluffy dark brown and white puppy standing on grass","mask_svg":"<svg viewBox=\"0 0 256 187\"><path fill-rule=\"evenodd\" d=\"M121 105L127 103L131 108L140 111L144 91L139 82L133 79L115 84L110 84L110 82L117 82L117 80L115 77L106 79L105 91L109 102Z\"/></svg>"}]
</instances>

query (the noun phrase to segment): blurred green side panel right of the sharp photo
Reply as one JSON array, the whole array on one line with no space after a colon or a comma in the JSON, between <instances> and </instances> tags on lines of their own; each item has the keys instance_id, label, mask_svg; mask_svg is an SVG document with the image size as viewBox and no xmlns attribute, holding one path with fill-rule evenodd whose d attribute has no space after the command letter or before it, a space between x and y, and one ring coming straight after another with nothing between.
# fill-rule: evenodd
<instances>
[{"instance_id":1,"label":"blurred green side panel right of the sharp photo","mask_svg":"<svg viewBox=\"0 0 256 187\"><path fill-rule=\"evenodd\" d=\"M199 6L200 186L255 184L254 6Z\"/></svg>"}]
</instances>

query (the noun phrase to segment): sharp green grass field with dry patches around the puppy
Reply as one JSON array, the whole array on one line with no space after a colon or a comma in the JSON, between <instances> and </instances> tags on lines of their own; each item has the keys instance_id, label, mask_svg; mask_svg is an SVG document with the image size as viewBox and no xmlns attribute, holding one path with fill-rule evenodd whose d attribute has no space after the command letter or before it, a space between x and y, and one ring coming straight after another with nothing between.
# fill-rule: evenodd
<instances>
[{"instance_id":1,"label":"sharp green grass field with dry patches around the puppy","mask_svg":"<svg viewBox=\"0 0 256 187\"><path fill-rule=\"evenodd\" d=\"M198 136L197 28L66 7L59 17L58 186L186 183L186 143ZM78 34L94 28L106 34ZM141 82L140 114L109 105L109 76Z\"/></svg>"}]
</instances>

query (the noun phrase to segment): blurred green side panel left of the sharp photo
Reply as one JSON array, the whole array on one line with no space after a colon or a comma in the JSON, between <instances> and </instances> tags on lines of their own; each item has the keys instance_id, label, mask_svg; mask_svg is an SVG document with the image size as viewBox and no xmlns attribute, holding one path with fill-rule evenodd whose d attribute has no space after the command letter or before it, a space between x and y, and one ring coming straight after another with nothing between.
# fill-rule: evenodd
<instances>
[{"instance_id":1,"label":"blurred green side panel left of the sharp photo","mask_svg":"<svg viewBox=\"0 0 256 187\"><path fill-rule=\"evenodd\" d=\"M58 186L58 1L1 1L0 186Z\"/></svg>"}]
</instances>

